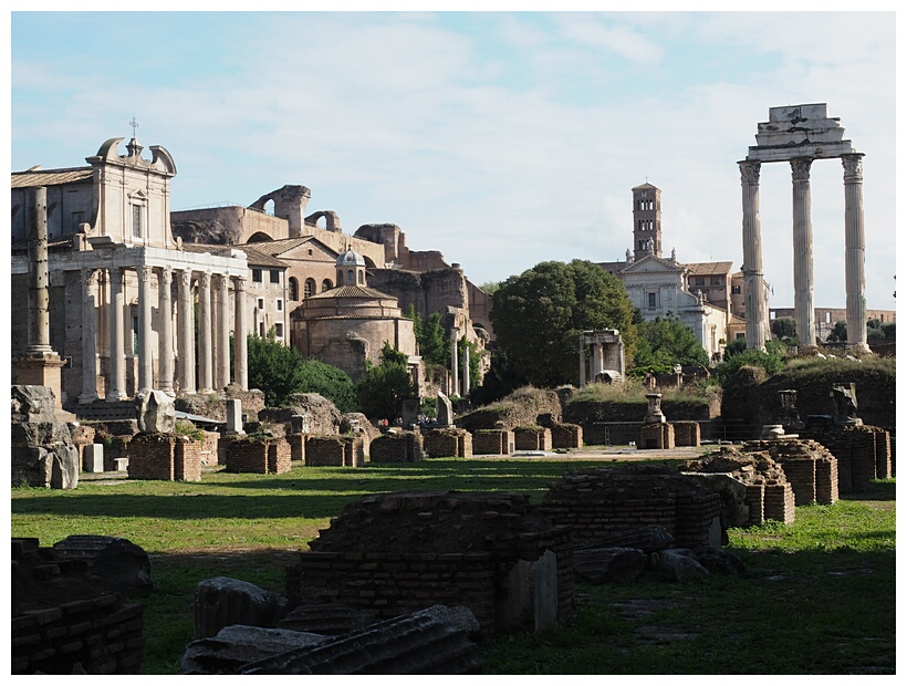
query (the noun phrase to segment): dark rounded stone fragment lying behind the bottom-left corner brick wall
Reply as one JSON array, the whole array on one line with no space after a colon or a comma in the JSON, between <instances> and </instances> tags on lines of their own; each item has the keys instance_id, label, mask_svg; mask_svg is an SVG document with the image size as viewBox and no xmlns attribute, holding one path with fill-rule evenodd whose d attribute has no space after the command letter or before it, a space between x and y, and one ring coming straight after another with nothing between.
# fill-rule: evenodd
<instances>
[{"instance_id":1,"label":"dark rounded stone fragment lying behind the bottom-left corner brick wall","mask_svg":"<svg viewBox=\"0 0 907 686\"><path fill-rule=\"evenodd\" d=\"M127 539L75 534L58 541L53 549L61 558L84 560L105 591L145 596L154 590L148 553Z\"/></svg>"}]
</instances>

